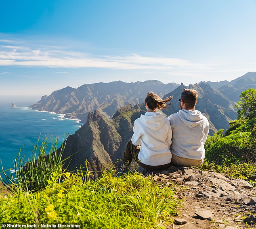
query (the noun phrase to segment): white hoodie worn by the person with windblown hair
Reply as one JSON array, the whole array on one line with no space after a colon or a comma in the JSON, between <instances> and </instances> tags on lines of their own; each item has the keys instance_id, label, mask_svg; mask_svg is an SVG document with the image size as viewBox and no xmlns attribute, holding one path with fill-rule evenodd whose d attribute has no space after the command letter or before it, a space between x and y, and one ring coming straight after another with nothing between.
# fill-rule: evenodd
<instances>
[{"instance_id":1,"label":"white hoodie worn by the person with windblown hair","mask_svg":"<svg viewBox=\"0 0 256 229\"><path fill-rule=\"evenodd\" d=\"M132 144L141 145L138 159L145 165L165 165L171 162L172 129L161 113L146 112L136 119Z\"/></svg>"}]
</instances>

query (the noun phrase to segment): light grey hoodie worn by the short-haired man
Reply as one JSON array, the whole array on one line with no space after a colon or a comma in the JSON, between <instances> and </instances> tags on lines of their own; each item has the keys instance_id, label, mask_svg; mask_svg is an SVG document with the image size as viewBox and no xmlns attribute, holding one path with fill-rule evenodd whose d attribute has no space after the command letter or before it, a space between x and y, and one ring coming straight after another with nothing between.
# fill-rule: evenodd
<instances>
[{"instance_id":1,"label":"light grey hoodie worn by the short-haired man","mask_svg":"<svg viewBox=\"0 0 256 229\"><path fill-rule=\"evenodd\" d=\"M209 122L200 111L180 110L168 117L172 126L172 154L194 160L205 157Z\"/></svg>"}]
</instances>

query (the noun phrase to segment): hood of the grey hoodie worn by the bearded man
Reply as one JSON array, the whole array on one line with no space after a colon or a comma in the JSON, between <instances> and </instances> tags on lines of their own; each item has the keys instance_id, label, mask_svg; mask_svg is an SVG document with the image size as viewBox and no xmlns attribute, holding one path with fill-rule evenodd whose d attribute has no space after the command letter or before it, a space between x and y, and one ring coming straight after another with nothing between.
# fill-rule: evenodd
<instances>
[{"instance_id":1,"label":"hood of the grey hoodie worn by the bearded man","mask_svg":"<svg viewBox=\"0 0 256 229\"><path fill-rule=\"evenodd\" d=\"M182 122L189 128L198 126L204 119L204 116L200 111L189 111L189 110L180 110L177 112L178 117Z\"/></svg>"}]
</instances>

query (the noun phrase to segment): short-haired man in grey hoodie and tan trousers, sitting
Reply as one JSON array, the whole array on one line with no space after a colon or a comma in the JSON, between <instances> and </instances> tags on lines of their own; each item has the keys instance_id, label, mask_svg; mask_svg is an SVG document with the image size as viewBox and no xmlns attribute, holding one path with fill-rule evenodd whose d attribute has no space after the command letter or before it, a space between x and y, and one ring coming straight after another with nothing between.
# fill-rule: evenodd
<instances>
[{"instance_id":1,"label":"short-haired man in grey hoodie and tan trousers, sitting","mask_svg":"<svg viewBox=\"0 0 256 229\"><path fill-rule=\"evenodd\" d=\"M197 91L184 89L179 99L180 111L168 117L172 127L172 164L199 166L204 162L209 122L195 110L197 97Z\"/></svg>"}]
</instances>

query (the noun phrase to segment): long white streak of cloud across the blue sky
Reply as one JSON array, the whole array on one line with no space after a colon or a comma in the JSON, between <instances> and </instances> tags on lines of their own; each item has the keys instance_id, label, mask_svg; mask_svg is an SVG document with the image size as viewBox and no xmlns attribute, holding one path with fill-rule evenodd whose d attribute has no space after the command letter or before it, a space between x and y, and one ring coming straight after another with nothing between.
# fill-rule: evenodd
<instances>
[{"instance_id":1,"label":"long white streak of cloud across the blue sky","mask_svg":"<svg viewBox=\"0 0 256 229\"><path fill-rule=\"evenodd\" d=\"M0 45L0 66L44 66L63 68L112 68L125 70L205 69L203 64L162 56L93 56L65 51L63 47ZM59 73L59 72L57 72ZM63 73L63 72L62 72Z\"/></svg>"}]
</instances>

